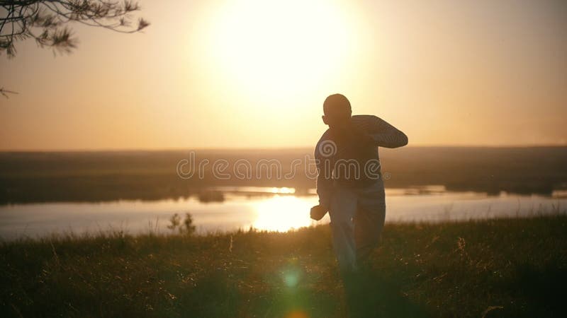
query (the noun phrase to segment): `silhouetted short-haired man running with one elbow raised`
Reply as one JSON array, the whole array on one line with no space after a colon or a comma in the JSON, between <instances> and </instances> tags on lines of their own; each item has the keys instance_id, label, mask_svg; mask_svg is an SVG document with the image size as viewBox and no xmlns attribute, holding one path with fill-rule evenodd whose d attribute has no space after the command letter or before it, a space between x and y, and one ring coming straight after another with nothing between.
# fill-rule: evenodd
<instances>
[{"instance_id":1,"label":"silhouetted short-haired man running with one elbow raised","mask_svg":"<svg viewBox=\"0 0 567 318\"><path fill-rule=\"evenodd\" d=\"M378 244L386 217L378 146L405 146L408 136L376 116L352 116L341 94L327 97L323 112L329 129L315 147L319 205L311 217L329 212L339 269L354 273Z\"/></svg>"}]
</instances>

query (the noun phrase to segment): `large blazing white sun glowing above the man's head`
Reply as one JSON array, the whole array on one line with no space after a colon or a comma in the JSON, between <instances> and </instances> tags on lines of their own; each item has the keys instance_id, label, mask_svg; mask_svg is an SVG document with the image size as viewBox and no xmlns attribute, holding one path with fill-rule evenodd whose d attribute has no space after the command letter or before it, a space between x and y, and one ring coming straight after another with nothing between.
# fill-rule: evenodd
<instances>
[{"instance_id":1,"label":"large blazing white sun glowing above the man's head","mask_svg":"<svg viewBox=\"0 0 567 318\"><path fill-rule=\"evenodd\" d=\"M356 35L334 1L228 1L210 16L206 51L223 83L302 93L340 76Z\"/></svg>"}]
</instances>

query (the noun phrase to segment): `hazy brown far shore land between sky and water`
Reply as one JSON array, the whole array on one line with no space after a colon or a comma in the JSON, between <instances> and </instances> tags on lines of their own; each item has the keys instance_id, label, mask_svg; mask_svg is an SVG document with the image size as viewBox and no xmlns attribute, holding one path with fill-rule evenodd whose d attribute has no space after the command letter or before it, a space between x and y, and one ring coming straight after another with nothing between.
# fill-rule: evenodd
<instances>
[{"instance_id":1,"label":"hazy brown far shore land between sky and water","mask_svg":"<svg viewBox=\"0 0 567 318\"><path fill-rule=\"evenodd\" d=\"M567 188L567 147L380 148L380 155L391 188L440 184L489 194ZM305 148L4 152L0 204L167 199L214 186L294 187L301 194L315 187L312 159L313 149Z\"/></svg>"}]
</instances>

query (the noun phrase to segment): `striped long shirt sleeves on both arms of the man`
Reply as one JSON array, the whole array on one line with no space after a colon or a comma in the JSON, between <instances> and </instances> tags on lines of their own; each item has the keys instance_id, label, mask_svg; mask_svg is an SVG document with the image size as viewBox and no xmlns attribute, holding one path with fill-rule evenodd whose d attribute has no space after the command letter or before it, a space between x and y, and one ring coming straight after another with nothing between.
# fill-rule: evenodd
<instances>
[{"instance_id":1,"label":"striped long shirt sleeves on both arms of the man","mask_svg":"<svg viewBox=\"0 0 567 318\"><path fill-rule=\"evenodd\" d=\"M337 175L337 171L334 171L337 158L357 158L357 155L353 153L355 149L360 152L360 148L364 148L362 152L366 153L365 158L376 160L379 163L378 147L398 148L408 144L408 136L374 115L352 116L351 126L356 129L358 136L365 139L362 146L360 144L353 146L356 141L337 142L330 129L322 134L315 146L315 160L318 168L317 194L319 203L327 208L332 190L337 186L333 177Z\"/></svg>"}]
</instances>

